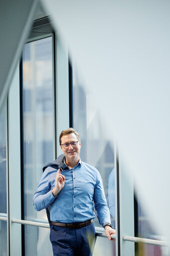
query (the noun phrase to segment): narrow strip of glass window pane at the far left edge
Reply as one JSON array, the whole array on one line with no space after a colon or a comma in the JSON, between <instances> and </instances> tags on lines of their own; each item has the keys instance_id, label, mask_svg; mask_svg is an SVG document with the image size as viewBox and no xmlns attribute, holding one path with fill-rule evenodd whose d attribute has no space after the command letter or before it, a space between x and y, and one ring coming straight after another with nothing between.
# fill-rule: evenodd
<instances>
[{"instance_id":1,"label":"narrow strip of glass window pane at the far left edge","mask_svg":"<svg viewBox=\"0 0 170 256\"><path fill-rule=\"evenodd\" d=\"M6 104L0 112L0 215L6 217ZM7 255L6 221L0 221L0 255Z\"/></svg>"}]
</instances>

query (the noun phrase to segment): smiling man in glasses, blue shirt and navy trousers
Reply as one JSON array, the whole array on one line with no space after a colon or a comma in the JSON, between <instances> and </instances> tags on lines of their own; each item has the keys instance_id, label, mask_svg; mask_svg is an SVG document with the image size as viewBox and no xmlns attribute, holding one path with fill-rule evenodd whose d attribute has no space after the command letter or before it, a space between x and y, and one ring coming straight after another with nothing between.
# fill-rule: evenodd
<instances>
[{"instance_id":1,"label":"smiling man in glasses, blue shirt and navy trousers","mask_svg":"<svg viewBox=\"0 0 170 256\"><path fill-rule=\"evenodd\" d=\"M95 241L93 201L108 238L111 240L111 234L115 234L101 176L95 167L81 161L80 137L73 128L63 130L59 142L64 154L44 166L33 198L34 208L46 208L49 213L54 255L92 255Z\"/></svg>"}]
</instances>

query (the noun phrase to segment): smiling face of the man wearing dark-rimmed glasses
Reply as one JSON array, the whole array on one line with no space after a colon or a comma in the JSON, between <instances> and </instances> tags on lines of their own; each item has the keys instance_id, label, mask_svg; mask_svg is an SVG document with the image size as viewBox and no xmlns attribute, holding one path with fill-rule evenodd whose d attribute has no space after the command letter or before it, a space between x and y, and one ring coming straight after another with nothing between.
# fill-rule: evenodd
<instances>
[{"instance_id":1,"label":"smiling face of the man wearing dark-rimmed glasses","mask_svg":"<svg viewBox=\"0 0 170 256\"><path fill-rule=\"evenodd\" d=\"M61 144L64 144L64 143L70 143L70 142L73 142L73 141L78 141L77 137L76 137L76 134L75 133L70 133L68 135L63 135L61 137ZM63 151L66 159L68 161L78 161L79 160L79 154L80 154L80 148L81 148L81 143L78 141L76 146L72 146L71 144L69 144L69 147L68 148L64 148L62 145L61 146L61 150Z\"/></svg>"}]
</instances>

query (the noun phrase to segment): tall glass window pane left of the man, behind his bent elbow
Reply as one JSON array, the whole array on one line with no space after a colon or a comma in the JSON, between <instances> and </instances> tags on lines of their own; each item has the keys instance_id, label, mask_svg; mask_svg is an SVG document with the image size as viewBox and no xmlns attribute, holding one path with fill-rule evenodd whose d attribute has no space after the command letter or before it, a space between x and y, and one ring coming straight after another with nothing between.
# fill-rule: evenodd
<instances>
[{"instance_id":1,"label":"tall glass window pane left of the man, behind his bent elbow","mask_svg":"<svg viewBox=\"0 0 170 256\"><path fill-rule=\"evenodd\" d=\"M28 220L47 219L45 209L37 212L33 208L32 199L42 175L42 167L53 160L54 155L52 84L52 37L26 43L23 50L22 96L24 217ZM26 255L46 256L47 243L41 242L49 229L42 233L38 227L33 227L32 233L29 230L32 230L31 227L25 227ZM29 240L33 241L31 246Z\"/></svg>"}]
</instances>

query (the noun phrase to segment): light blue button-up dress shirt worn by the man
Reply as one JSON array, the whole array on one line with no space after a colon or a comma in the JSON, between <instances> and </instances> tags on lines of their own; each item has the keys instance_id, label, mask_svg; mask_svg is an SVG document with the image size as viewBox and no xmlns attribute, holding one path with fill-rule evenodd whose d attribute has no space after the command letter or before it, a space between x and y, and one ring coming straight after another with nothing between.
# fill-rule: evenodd
<instances>
[{"instance_id":1,"label":"light blue button-up dress shirt worn by the man","mask_svg":"<svg viewBox=\"0 0 170 256\"><path fill-rule=\"evenodd\" d=\"M56 172L55 168L49 166L42 174L33 198L37 211L48 207L51 221L82 222L96 217L95 206L100 224L110 223L102 179L95 167L81 160L73 168L66 166L62 171L65 185L53 196L51 190L55 184Z\"/></svg>"}]
</instances>

